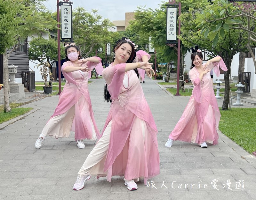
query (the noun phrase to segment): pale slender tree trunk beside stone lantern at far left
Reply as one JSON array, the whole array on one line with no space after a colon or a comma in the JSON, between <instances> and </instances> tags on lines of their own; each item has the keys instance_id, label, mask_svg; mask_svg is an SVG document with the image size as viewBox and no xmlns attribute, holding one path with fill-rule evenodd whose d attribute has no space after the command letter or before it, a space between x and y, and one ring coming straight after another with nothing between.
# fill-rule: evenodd
<instances>
[{"instance_id":1,"label":"pale slender tree trunk beside stone lantern at far left","mask_svg":"<svg viewBox=\"0 0 256 200\"><path fill-rule=\"evenodd\" d=\"M11 112L9 103L9 72L8 72L8 56L7 51L3 54L3 76L4 76L4 112Z\"/></svg>"}]
</instances>

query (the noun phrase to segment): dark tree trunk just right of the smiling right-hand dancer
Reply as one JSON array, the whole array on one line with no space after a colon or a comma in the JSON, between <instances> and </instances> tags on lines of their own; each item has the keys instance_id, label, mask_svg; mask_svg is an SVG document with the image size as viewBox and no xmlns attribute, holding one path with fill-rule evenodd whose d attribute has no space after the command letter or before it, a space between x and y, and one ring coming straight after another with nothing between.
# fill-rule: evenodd
<instances>
[{"instance_id":1,"label":"dark tree trunk just right of the smiling right-hand dancer","mask_svg":"<svg viewBox=\"0 0 256 200\"><path fill-rule=\"evenodd\" d=\"M231 57L230 55L226 55L223 58L224 63L226 64L228 70L224 72L224 81L225 81L225 95L224 95L224 100L222 104L221 110L228 110L228 103L229 103L229 88L230 88L230 83L229 83L229 75L230 75L230 67L231 67Z\"/></svg>"}]
</instances>

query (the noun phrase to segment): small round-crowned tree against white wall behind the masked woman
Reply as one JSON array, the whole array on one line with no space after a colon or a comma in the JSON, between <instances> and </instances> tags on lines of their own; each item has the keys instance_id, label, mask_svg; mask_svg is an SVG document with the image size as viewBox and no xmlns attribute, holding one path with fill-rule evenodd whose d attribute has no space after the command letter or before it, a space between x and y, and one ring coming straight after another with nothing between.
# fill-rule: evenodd
<instances>
[{"instance_id":1,"label":"small round-crowned tree against white wall behind the masked woman","mask_svg":"<svg viewBox=\"0 0 256 200\"><path fill-rule=\"evenodd\" d=\"M63 45L60 45L60 59L65 58L65 52ZM29 60L35 60L39 62L43 68L44 66L50 67L49 72L52 74L52 65L58 60L58 42L55 39L49 37L49 39L44 39L43 37L34 38L29 42ZM45 62L47 64L45 64ZM46 77L47 81L47 77ZM45 86L47 86L47 82ZM49 85L52 86L52 79L50 78Z\"/></svg>"}]
</instances>

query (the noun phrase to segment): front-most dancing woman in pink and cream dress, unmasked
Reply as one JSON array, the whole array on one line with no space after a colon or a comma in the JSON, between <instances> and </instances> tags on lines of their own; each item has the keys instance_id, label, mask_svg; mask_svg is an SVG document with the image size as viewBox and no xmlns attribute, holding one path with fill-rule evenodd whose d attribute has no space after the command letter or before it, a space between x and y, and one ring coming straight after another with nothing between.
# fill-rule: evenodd
<instances>
[{"instance_id":1,"label":"front-most dancing woman in pink and cream dress, unmasked","mask_svg":"<svg viewBox=\"0 0 256 200\"><path fill-rule=\"evenodd\" d=\"M127 38L116 43L114 52L113 63L102 73L110 111L102 136L78 172L74 190L82 189L91 175L107 176L108 181L115 175L124 176L127 189L135 190L138 187L133 179L144 177L146 184L148 178L160 172L156 124L136 70L152 70L147 66L149 55L137 52L139 60L146 61L132 63L134 43Z\"/></svg>"}]
</instances>

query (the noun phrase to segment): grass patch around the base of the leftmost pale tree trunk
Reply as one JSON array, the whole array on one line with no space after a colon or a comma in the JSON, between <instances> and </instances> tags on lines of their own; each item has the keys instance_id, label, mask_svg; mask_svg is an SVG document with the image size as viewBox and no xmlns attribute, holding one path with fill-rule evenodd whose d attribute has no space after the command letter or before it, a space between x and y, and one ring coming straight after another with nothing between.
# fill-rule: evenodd
<instances>
[{"instance_id":1,"label":"grass patch around the base of the leftmost pale tree trunk","mask_svg":"<svg viewBox=\"0 0 256 200\"><path fill-rule=\"evenodd\" d=\"M24 103L10 103L12 112L4 113L4 105L0 106L0 123L7 122L10 119L13 119L17 116L24 115L28 111L32 110L32 107L18 107Z\"/></svg>"}]
</instances>

